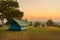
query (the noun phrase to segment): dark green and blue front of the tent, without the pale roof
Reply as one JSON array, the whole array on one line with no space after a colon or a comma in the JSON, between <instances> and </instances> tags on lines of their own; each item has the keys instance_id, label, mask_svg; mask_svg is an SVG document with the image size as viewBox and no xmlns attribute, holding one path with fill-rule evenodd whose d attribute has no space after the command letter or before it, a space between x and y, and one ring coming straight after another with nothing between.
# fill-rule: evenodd
<instances>
[{"instance_id":1,"label":"dark green and blue front of the tent, without the pale roof","mask_svg":"<svg viewBox=\"0 0 60 40\"><path fill-rule=\"evenodd\" d=\"M18 25L18 23L16 23L16 21L13 19L10 19L7 22L7 25L9 25L9 30L21 30L21 26Z\"/></svg>"}]
</instances>

